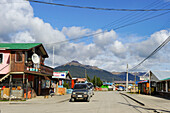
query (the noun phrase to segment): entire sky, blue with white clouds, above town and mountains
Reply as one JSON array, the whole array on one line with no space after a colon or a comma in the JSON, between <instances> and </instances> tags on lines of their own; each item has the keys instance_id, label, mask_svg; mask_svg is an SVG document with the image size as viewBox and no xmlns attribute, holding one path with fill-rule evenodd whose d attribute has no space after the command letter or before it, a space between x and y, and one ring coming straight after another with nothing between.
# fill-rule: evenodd
<instances>
[{"instance_id":1,"label":"entire sky, blue with white clouds, above town and mountains","mask_svg":"<svg viewBox=\"0 0 170 113\"><path fill-rule=\"evenodd\" d=\"M97 8L170 9L169 0L39 1ZM157 15L161 16L153 18ZM168 38L169 28L168 11L106 11L0 1L0 42L42 43L49 54L48 66L53 66L54 48L53 67L76 60L111 72L126 71L127 64L133 68ZM96 35L84 37L89 34ZM81 39L66 41L74 38ZM170 70L169 50L167 44L135 71Z\"/></svg>"}]
</instances>

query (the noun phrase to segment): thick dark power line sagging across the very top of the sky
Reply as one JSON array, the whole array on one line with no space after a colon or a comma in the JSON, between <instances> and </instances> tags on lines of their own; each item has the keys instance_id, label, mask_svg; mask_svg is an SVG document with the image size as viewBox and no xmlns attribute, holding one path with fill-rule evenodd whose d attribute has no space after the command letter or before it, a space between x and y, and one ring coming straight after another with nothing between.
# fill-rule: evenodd
<instances>
[{"instance_id":1,"label":"thick dark power line sagging across the very top of the sky","mask_svg":"<svg viewBox=\"0 0 170 113\"><path fill-rule=\"evenodd\" d=\"M65 5L65 4L57 4L57 3L50 3L50 2L43 2L43 1L36 1L36 0L27 0L29 2L36 2L42 4L49 4L49 5L57 5L63 7L73 7L73 8L83 8L83 9L92 9L92 10L107 10L107 11L168 11L170 9L114 9L114 8L97 8L97 7L83 7L83 6L75 6L75 5Z\"/></svg>"}]
</instances>

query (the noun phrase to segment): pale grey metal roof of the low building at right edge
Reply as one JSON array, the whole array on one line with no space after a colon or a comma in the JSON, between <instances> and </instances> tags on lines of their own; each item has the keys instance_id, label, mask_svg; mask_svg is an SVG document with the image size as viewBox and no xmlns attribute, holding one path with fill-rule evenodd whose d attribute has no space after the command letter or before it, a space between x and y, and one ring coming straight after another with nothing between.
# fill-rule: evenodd
<instances>
[{"instance_id":1,"label":"pale grey metal roof of the low building at right edge","mask_svg":"<svg viewBox=\"0 0 170 113\"><path fill-rule=\"evenodd\" d=\"M170 78L170 71L151 71L159 80Z\"/></svg>"}]
</instances>

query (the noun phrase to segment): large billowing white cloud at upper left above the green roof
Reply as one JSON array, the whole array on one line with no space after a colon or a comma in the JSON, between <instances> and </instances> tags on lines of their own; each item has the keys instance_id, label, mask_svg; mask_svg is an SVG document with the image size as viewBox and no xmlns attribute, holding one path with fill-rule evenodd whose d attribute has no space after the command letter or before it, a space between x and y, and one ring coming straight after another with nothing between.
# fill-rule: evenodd
<instances>
[{"instance_id":1,"label":"large billowing white cloud at upper left above the green roof","mask_svg":"<svg viewBox=\"0 0 170 113\"><path fill-rule=\"evenodd\" d=\"M22 2L21 4L12 2L14 1L3 0L4 4L0 5L0 37L3 38L3 41L51 43L54 42L53 40L65 40L65 35L62 32L53 29L49 23L45 23L42 19L34 17L29 2L23 0L15 1ZM26 36L28 39L25 39Z\"/></svg>"}]
</instances>

